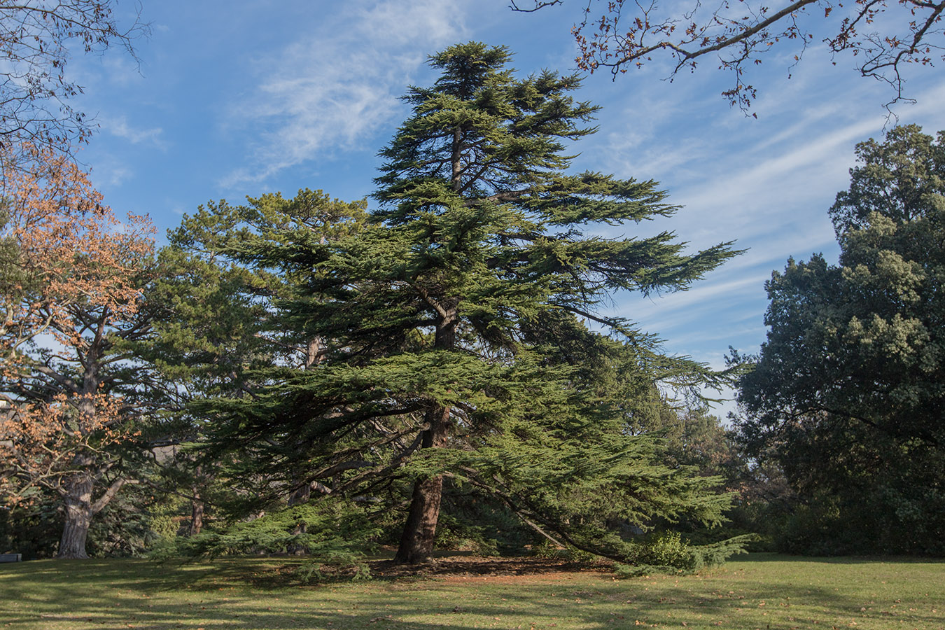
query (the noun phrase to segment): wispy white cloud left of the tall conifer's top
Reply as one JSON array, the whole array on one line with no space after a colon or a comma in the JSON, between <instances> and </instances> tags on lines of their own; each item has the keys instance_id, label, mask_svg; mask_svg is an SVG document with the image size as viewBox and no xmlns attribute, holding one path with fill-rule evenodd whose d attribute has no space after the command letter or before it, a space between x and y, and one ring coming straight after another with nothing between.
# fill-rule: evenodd
<instances>
[{"instance_id":1,"label":"wispy white cloud left of the tall conifer's top","mask_svg":"<svg viewBox=\"0 0 945 630\"><path fill-rule=\"evenodd\" d=\"M221 185L260 182L365 143L402 112L399 96L426 56L464 35L466 5L355 0L304 41L258 60L258 84L229 125L263 132L252 160Z\"/></svg>"}]
</instances>

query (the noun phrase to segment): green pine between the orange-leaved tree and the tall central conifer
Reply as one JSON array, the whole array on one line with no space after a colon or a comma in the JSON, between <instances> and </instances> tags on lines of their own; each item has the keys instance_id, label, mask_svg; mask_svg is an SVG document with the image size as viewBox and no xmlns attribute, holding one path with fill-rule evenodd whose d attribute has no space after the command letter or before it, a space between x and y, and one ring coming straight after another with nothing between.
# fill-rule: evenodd
<instances>
[{"instance_id":1,"label":"green pine between the orange-leaved tree and the tall central conifer","mask_svg":"<svg viewBox=\"0 0 945 630\"><path fill-rule=\"evenodd\" d=\"M191 497L191 535L200 531L209 493L226 522L284 504L281 492L296 501L310 491L293 470L265 474L254 468L249 452L215 459L195 448L206 439L205 417L192 408L195 400L252 397L284 369L312 368L323 360L323 340L288 325L276 306L291 295L293 276L279 265L238 261L226 252L250 244L280 247L284 232L293 230L318 242L339 238L358 230L364 205L310 190L290 199L249 198L239 206L220 201L185 216L180 228L169 232L169 244L159 254L159 277L146 294L157 309L155 335L138 352L174 391L157 437L174 445L174 457L163 459L162 467L166 484ZM297 437L286 436L284 447L293 448Z\"/></svg>"}]
</instances>

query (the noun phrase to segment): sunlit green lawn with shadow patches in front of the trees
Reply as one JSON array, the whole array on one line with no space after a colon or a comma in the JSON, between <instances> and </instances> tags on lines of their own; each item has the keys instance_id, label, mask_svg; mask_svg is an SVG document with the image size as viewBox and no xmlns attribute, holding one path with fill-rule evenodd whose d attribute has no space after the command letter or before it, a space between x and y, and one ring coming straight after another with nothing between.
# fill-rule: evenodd
<instances>
[{"instance_id":1,"label":"sunlit green lawn with shadow patches in front of the trees","mask_svg":"<svg viewBox=\"0 0 945 630\"><path fill-rule=\"evenodd\" d=\"M945 562L753 554L705 575L596 573L299 585L280 561L0 565L0 628L945 629Z\"/></svg>"}]
</instances>

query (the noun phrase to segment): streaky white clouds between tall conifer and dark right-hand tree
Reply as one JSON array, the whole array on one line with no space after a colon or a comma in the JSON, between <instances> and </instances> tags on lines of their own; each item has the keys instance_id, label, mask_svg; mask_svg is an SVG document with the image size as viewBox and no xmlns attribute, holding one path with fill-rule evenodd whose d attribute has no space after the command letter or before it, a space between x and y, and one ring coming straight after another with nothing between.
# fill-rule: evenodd
<instances>
[{"instance_id":1,"label":"streaky white clouds between tall conifer and dark right-hand tree","mask_svg":"<svg viewBox=\"0 0 945 630\"><path fill-rule=\"evenodd\" d=\"M795 107L803 104L797 111L772 109L770 120L742 121L725 134L679 128L672 137L656 128L638 132L640 138L631 135L623 144L614 135L614 150L602 152L622 160L627 171L648 168L647 176L674 182L671 201L684 206L675 217L627 231L677 230L694 248L736 239L735 247L748 249L688 292L618 302L613 312L638 322L644 331L659 332L667 351L691 354L716 367L721 366L721 350L730 344L756 351L765 335L764 284L771 271L782 269L789 256L807 259L813 252L835 261L838 247L827 210L836 192L849 185L853 145L882 137L888 123L877 101L862 93L851 91L841 102L819 100L816 94L805 100L810 86L792 85L792 93L782 96ZM902 117L927 130L945 127L938 105L945 99L945 86L917 96L919 105L903 105ZM789 109L774 97L769 103ZM671 107L679 109L678 104ZM661 120L658 103L646 105L651 110ZM651 136L659 135L671 140L657 144Z\"/></svg>"}]
</instances>

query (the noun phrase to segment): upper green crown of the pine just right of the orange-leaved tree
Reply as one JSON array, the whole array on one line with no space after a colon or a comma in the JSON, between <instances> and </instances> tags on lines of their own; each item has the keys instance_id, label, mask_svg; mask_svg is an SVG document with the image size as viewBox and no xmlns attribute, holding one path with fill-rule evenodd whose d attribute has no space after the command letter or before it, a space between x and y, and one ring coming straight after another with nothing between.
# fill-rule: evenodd
<instances>
[{"instance_id":1,"label":"upper green crown of the pine just right of the orange-leaved tree","mask_svg":"<svg viewBox=\"0 0 945 630\"><path fill-rule=\"evenodd\" d=\"M307 340L284 325L274 306L291 295L292 277L247 252L292 238L319 243L363 221L363 202L308 189L291 199L264 195L242 206L201 206L168 234L170 244L160 252L162 272L147 296L161 309L159 335L139 351L166 379L202 394L243 391L253 370L304 365ZM236 252L245 254L239 262Z\"/></svg>"}]
</instances>

